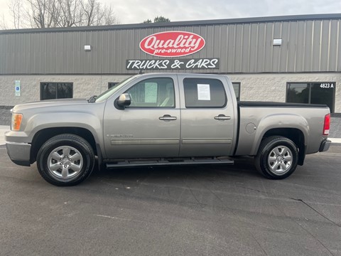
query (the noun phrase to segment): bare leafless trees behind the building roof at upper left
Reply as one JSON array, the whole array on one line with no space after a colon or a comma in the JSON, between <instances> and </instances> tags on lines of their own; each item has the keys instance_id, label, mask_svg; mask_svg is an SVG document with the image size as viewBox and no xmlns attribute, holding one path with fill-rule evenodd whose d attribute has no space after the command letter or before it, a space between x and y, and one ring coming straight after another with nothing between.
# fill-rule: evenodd
<instances>
[{"instance_id":1,"label":"bare leafless trees behind the building roof at upper left","mask_svg":"<svg viewBox=\"0 0 341 256\"><path fill-rule=\"evenodd\" d=\"M11 0L14 28L99 26L119 23L112 6L99 0ZM6 28L4 22L1 28Z\"/></svg>"}]
</instances>

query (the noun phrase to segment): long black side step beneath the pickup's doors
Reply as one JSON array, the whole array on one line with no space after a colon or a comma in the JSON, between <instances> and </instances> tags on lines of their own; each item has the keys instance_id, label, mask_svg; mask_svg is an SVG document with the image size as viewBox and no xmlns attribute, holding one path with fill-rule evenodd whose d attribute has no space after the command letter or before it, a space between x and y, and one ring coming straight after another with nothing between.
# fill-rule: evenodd
<instances>
[{"instance_id":1,"label":"long black side step beneath the pickup's doors","mask_svg":"<svg viewBox=\"0 0 341 256\"><path fill-rule=\"evenodd\" d=\"M190 165L190 164L234 164L234 161L222 158L184 158L184 159L129 159L118 160L107 163L107 168L122 168L136 166L174 166L174 165Z\"/></svg>"}]
</instances>

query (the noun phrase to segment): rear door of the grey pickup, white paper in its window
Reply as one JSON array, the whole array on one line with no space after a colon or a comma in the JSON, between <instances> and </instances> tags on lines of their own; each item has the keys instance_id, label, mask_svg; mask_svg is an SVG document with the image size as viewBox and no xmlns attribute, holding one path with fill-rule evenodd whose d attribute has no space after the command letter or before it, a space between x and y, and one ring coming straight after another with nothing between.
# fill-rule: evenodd
<instances>
[{"instance_id":1,"label":"rear door of the grey pickup, white paper in its window","mask_svg":"<svg viewBox=\"0 0 341 256\"><path fill-rule=\"evenodd\" d=\"M234 143L235 99L227 80L179 75L181 102L180 156L229 156ZM236 103L235 103L236 104Z\"/></svg>"}]
</instances>

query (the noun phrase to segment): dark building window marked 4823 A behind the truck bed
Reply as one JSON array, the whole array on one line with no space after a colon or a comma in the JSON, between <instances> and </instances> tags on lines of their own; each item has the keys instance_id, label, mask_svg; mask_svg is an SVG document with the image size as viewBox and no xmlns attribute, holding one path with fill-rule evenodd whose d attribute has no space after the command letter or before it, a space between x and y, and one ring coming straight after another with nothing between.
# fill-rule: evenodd
<instances>
[{"instance_id":1,"label":"dark building window marked 4823 A behind the truck bed","mask_svg":"<svg viewBox=\"0 0 341 256\"><path fill-rule=\"evenodd\" d=\"M334 112L335 82L288 82L286 102L325 104Z\"/></svg>"}]
</instances>

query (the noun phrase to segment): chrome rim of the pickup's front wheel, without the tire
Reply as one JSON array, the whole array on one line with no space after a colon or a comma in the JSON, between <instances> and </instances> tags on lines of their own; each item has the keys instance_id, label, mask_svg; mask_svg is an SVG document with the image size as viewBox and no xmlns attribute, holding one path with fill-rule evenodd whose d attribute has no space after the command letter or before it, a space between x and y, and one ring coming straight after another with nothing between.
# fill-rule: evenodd
<instances>
[{"instance_id":1,"label":"chrome rim of the pickup's front wheel, without the tire","mask_svg":"<svg viewBox=\"0 0 341 256\"><path fill-rule=\"evenodd\" d=\"M58 146L48 155L48 171L57 178L75 177L82 170L82 166L82 154L72 146Z\"/></svg>"}]
</instances>

